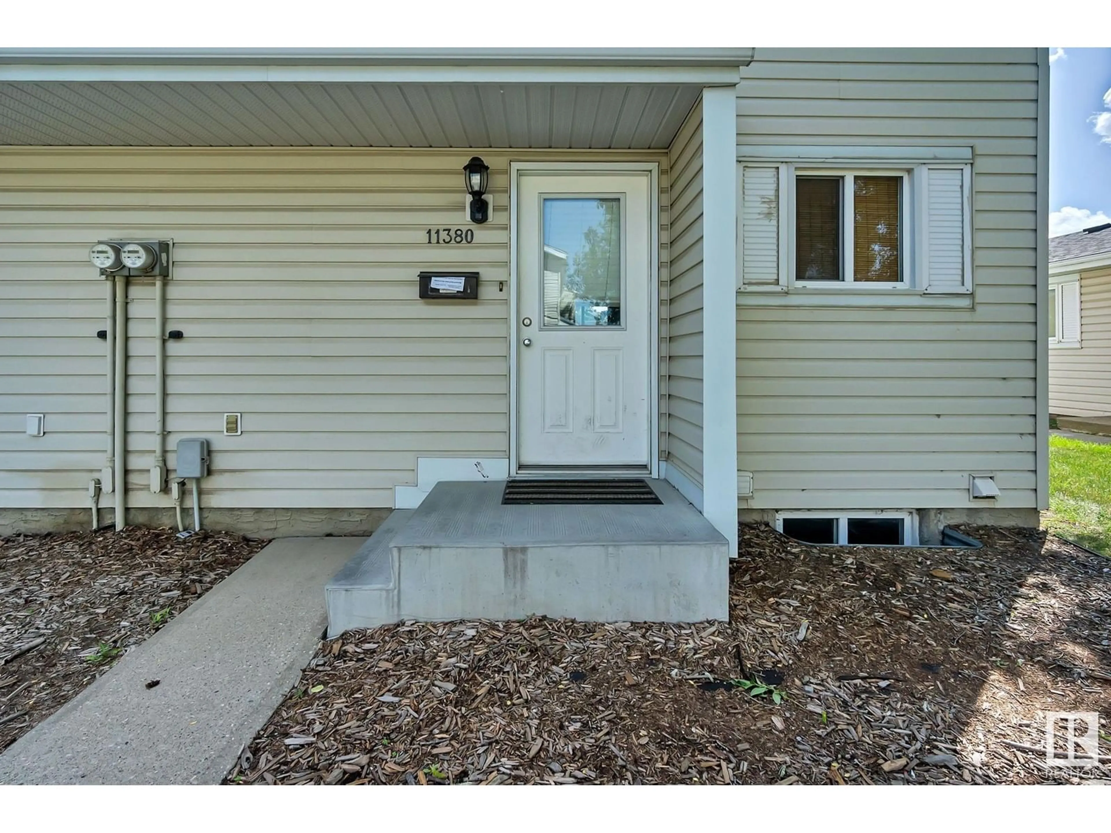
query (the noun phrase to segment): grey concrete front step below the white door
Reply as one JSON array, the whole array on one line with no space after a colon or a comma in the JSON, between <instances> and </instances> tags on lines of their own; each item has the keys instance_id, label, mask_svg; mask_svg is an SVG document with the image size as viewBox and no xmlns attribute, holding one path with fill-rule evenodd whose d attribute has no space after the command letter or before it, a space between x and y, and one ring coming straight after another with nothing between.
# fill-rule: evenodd
<instances>
[{"instance_id":1,"label":"grey concrete front step below the white door","mask_svg":"<svg viewBox=\"0 0 1111 833\"><path fill-rule=\"evenodd\" d=\"M441 482L329 583L329 633L408 619L725 619L728 542L651 484L662 505L503 506L504 481Z\"/></svg>"}]
</instances>

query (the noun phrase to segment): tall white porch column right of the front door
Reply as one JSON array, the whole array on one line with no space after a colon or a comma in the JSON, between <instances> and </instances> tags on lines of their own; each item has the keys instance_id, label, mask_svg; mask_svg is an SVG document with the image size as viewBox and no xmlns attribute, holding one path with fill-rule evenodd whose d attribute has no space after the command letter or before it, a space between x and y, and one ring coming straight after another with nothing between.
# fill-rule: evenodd
<instances>
[{"instance_id":1,"label":"tall white porch column right of the front door","mask_svg":"<svg viewBox=\"0 0 1111 833\"><path fill-rule=\"evenodd\" d=\"M702 500L735 554L735 87L702 90Z\"/></svg>"}]
</instances>

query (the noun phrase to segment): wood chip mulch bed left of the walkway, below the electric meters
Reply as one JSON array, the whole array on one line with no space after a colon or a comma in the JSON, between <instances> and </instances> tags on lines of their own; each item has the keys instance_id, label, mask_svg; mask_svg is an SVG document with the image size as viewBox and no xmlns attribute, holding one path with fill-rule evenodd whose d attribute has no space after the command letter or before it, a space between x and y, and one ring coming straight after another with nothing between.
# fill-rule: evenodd
<instances>
[{"instance_id":1,"label":"wood chip mulch bed left of the walkway, below the electric meters","mask_svg":"<svg viewBox=\"0 0 1111 833\"><path fill-rule=\"evenodd\" d=\"M0 751L264 544L136 526L0 539Z\"/></svg>"}]
</instances>

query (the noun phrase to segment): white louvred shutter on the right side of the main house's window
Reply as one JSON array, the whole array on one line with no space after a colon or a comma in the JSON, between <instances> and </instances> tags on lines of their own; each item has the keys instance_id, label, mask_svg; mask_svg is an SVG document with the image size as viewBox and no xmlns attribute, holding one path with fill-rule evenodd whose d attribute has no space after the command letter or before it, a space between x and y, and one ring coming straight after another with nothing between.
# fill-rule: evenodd
<instances>
[{"instance_id":1,"label":"white louvred shutter on the right side of the main house's window","mask_svg":"<svg viewBox=\"0 0 1111 833\"><path fill-rule=\"evenodd\" d=\"M923 288L932 293L971 292L970 170L928 168L925 173Z\"/></svg>"}]
</instances>

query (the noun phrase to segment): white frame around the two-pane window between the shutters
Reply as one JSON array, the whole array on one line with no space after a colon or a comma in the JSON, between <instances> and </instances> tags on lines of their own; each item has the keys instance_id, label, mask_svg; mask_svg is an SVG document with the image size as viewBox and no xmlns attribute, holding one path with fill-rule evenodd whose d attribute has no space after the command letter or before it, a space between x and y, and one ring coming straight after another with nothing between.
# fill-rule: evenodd
<instances>
[{"instance_id":1,"label":"white frame around the two-pane window between the shutters","mask_svg":"<svg viewBox=\"0 0 1111 833\"><path fill-rule=\"evenodd\" d=\"M805 165L795 168L793 171L789 172L787 189L780 185L781 192L783 190L790 191L790 207L791 213L790 220L790 234L787 235L788 240L794 241L797 237L797 218L795 211L798 207L795 185L799 177L839 177L841 178L841 279L835 281L800 281L795 278L795 270L798 263L795 262L795 247L787 245L787 273L789 285L801 287L805 289L827 289L827 290L857 290L863 292L888 292L891 290L899 289L913 289L914 284L911 282L913 277L911 264L914 262L910 257L911 247L913 245L914 234L912 230L914 224L911 222L913 213L911 211L911 174L912 171L902 165L899 167L883 167L883 168L830 168L822 165ZM874 281L854 281L853 280L853 178L854 177L901 177L901 205L900 205L900 218L899 218L899 274L901 280L898 282L874 282ZM917 271L917 270L915 270Z\"/></svg>"}]
</instances>

